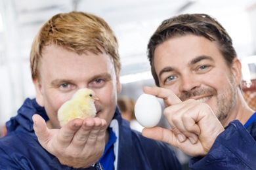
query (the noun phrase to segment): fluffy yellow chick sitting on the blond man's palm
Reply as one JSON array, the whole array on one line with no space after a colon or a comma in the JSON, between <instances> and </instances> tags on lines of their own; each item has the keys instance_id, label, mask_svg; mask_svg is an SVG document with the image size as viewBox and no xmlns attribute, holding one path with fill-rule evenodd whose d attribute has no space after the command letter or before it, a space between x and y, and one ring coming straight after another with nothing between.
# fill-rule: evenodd
<instances>
[{"instance_id":1,"label":"fluffy yellow chick sitting on the blond man's palm","mask_svg":"<svg viewBox=\"0 0 256 170\"><path fill-rule=\"evenodd\" d=\"M72 99L63 103L60 109L58 109L60 126L64 126L75 118L94 118L96 115L95 100L98 100L98 98L93 90L88 88L77 90Z\"/></svg>"}]
</instances>

